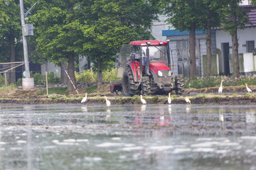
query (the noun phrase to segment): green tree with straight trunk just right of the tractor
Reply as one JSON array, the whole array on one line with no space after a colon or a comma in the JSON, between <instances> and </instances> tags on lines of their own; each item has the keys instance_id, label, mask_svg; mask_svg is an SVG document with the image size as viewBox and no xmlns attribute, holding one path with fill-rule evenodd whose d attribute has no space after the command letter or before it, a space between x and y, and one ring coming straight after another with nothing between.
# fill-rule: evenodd
<instances>
[{"instance_id":1,"label":"green tree with straight trunk just right of the tractor","mask_svg":"<svg viewBox=\"0 0 256 170\"><path fill-rule=\"evenodd\" d=\"M163 13L178 30L189 30L189 57L191 63L190 76L196 76L196 30L203 29L203 21L206 17L203 1L201 0L161 0Z\"/></svg>"}]
</instances>

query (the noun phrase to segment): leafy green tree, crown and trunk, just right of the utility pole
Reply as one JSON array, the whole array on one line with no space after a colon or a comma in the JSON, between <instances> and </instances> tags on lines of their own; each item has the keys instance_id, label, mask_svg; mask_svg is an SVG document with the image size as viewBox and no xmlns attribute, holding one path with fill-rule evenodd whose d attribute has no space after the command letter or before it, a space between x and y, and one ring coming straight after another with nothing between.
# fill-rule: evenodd
<instances>
[{"instance_id":1,"label":"leafy green tree, crown and trunk, just right of the utility pole","mask_svg":"<svg viewBox=\"0 0 256 170\"><path fill-rule=\"evenodd\" d=\"M57 65L67 61L68 74L74 84L78 42L83 38L80 27L85 24L79 22L83 19L77 13L79 3L78 0L40 1L31 17L36 32L36 50ZM68 81L68 91L73 90L73 84Z\"/></svg>"}]
</instances>

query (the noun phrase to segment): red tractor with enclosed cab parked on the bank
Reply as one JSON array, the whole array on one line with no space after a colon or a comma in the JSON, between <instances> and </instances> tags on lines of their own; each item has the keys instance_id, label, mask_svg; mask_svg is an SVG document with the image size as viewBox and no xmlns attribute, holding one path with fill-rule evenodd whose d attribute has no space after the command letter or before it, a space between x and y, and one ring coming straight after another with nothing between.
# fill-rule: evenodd
<instances>
[{"instance_id":1,"label":"red tractor with enclosed cab parked on the bank","mask_svg":"<svg viewBox=\"0 0 256 170\"><path fill-rule=\"evenodd\" d=\"M110 84L112 92L135 94L183 93L183 78L172 77L169 43L159 40L132 41L122 45L118 57L117 77L122 82ZM172 67L173 68L173 67Z\"/></svg>"}]
</instances>

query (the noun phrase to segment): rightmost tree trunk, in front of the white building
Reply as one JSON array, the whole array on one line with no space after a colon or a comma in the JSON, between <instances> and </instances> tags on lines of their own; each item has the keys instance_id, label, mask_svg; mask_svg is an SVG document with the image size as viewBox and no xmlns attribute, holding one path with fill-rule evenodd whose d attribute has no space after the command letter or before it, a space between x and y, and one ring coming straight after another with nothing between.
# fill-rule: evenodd
<instances>
[{"instance_id":1,"label":"rightmost tree trunk, in front of the white building","mask_svg":"<svg viewBox=\"0 0 256 170\"><path fill-rule=\"evenodd\" d=\"M239 77L239 55L238 55L238 30L232 34L232 53L233 53L233 74Z\"/></svg>"}]
</instances>

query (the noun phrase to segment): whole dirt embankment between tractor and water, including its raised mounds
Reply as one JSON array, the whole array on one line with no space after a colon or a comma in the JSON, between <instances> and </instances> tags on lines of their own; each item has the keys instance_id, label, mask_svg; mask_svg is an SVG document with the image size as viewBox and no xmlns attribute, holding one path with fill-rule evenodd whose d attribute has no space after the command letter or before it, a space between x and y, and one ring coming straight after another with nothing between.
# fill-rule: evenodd
<instances>
[{"instance_id":1,"label":"whole dirt embankment between tractor and water, including its raised mounds","mask_svg":"<svg viewBox=\"0 0 256 170\"><path fill-rule=\"evenodd\" d=\"M192 104L255 104L256 103L256 86L249 86L252 89L251 94L247 94L245 86L228 86L223 88L223 94L218 94L218 87L210 87L204 89L185 89L183 96L172 96L173 104L184 104L185 96L190 98ZM43 104L43 103L80 103L84 97L84 89L78 89L80 94L65 95L38 95L43 89L33 89L29 91L14 90L8 94L0 94L0 103L21 103L21 104ZM105 104L105 98L114 104L141 104L139 96L127 97L121 93L119 95L110 92L109 84L104 84L93 94L88 94L86 103ZM144 96L149 104L167 104L167 95L165 96Z\"/></svg>"}]
</instances>

